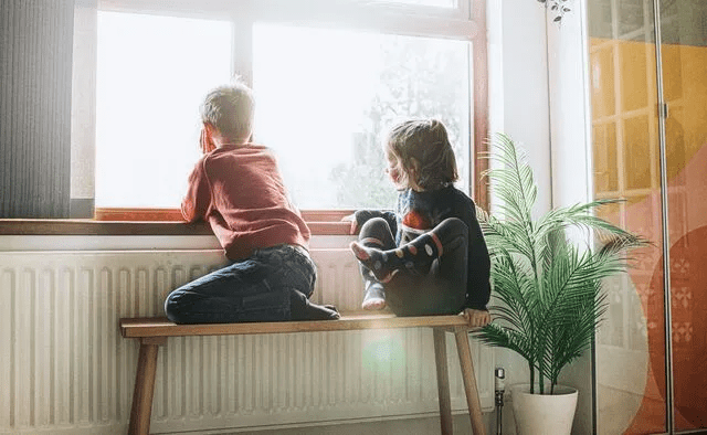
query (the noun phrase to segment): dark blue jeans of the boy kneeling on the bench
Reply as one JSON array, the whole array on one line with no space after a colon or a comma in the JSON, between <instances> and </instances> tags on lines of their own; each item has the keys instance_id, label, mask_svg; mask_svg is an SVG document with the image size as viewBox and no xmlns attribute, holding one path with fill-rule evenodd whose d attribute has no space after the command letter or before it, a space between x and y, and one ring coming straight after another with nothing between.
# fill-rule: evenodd
<instances>
[{"instance_id":1,"label":"dark blue jeans of the boy kneeling on the bench","mask_svg":"<svg viewBox=\"0 0 707 435\"><path fill-rule=\"evenodd\" d=\"M300 246L257 250L173 290L165 301L176 323L291 320L293 291L314 291L316 266Z\"/></svg>"}]
</instances>

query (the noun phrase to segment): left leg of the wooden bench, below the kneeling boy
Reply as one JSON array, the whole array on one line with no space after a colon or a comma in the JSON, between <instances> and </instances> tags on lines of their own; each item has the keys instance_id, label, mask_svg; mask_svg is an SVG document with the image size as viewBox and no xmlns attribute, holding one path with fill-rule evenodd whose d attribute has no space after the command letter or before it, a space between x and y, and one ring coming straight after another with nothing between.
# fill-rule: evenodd
<instances>
[{"instance_id":1,"label":"left leg of the wooden bench, below the kneeling boy","mask_svg":"<svg viewBox=\"0 0 707 435\"><path fill-rule=\"evenodd\" d=\"M133 410L128 435L148 435L150 432L150 414L155 395L155 374L157 372L157 353L165 343L165 337L144 338L140 340L140 354L135 374L133 392Z\"/></svg>"}]
</instances>

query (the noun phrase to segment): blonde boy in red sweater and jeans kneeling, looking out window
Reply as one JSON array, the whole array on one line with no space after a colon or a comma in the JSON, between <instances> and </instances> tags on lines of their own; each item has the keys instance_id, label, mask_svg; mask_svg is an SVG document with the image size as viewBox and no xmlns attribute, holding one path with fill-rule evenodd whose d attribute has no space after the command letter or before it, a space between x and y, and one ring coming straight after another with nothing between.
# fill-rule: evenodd
<instances>
[{"instance_id":1,"label":"blonde boy in red sweater and jeans kneeling, looking out window","mask_svg":"<svg viewBox=\"0 0 707 435\"><path fill-rule=\"evenodd\" d=\"M177 323L338 319L309 303L316 267L310 232L291 204L277 162L251 141L253 94L241 82L211 91L201 106L204 156L182 201L188 222L205 220L231 262L173 290L165 301Z\"/></svg>"}]
</instances>

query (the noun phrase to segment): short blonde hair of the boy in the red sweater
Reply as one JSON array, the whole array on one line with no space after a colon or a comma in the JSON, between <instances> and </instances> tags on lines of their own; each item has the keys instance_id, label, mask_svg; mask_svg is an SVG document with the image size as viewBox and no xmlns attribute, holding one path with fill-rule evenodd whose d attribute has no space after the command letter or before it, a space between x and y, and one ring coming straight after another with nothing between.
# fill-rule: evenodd
<instances>
[{"instance_id":1,"label":"short blonde hair of the boy in the red sweater","mask_svg":"<svg viewBox=\"0 0 707 435\"><path fill-rule=\"evenodd\" d=\"M212 89L201 105L201 120L228 139L245 140L253 131L253 91L240 78Z\"/></svg>"}]
</instances>

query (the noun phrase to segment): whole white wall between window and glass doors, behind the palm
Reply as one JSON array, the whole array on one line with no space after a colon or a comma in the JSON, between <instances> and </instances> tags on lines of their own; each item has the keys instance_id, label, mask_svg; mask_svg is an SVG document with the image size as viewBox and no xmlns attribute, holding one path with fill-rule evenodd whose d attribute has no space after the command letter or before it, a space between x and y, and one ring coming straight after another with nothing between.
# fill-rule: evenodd
<instances>
[{"instance_id":1,"label":"whole white wall between window and glass doors, behind the palm","mask_svg":"<svg viewBox=\"0 0 707 435\"><path fill-rule=\"evenodd\" d=\"M526 149L538 184L536 215L587 201L591 192L585 0L569 4L561 24L537 1L488 6L490 131L504 131ZM506 385L529 381L525 360L514 352L497 350L496 365L506 369ZM580 391L573 433L591 434L590 353L560 382ZM509 405L504 434L515 433Z\"/></svg>"}]
</instances>

